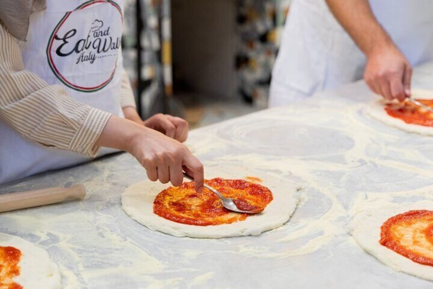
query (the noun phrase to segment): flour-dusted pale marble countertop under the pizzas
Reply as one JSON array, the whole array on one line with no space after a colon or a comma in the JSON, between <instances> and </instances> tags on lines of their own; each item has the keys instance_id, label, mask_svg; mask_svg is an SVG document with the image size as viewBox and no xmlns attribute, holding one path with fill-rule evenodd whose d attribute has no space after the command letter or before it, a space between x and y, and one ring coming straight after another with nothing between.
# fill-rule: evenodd
<instances>
[{"instance_id":1,"label":"flour-dusted pale marble countertop under the pizzas","mask_svg":"<svg viewBox=\"0 0 433 289\"><path fill-rule=\"evenodd\" d=\"M433 64L413 86L433 90ZM128 154L0 186L0 193L84 184L81 202L0 214L0 232L50 253L67 288L431 288L360 249L347 226L357 202L433 185L431 138L368 116L363 82L303 103L196 129L187 145L206 166L273 171L303 187L284 226L260 236L191 239L129 218L121 193L146 179Z\"/></svg>"}]
</instances>

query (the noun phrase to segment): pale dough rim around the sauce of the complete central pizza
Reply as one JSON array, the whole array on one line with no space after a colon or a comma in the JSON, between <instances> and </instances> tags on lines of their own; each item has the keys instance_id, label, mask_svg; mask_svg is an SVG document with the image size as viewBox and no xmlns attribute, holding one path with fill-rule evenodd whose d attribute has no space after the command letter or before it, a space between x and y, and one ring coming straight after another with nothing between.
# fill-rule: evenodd
<instances>
[{"instance_id":1,"label":"pale dough rim around the sauce of the complete central pizza","mask_svg":"<svg viewBox=\"0 0 433 289\"><path fill-rule=\"evenodd\" d=\"M153 213L155 196L170 184L143 181L128 187L122 194L122 208L138 223L149 229L179 237L223 238L247 235L259 235L280 227L292 216L299 203L299 195L295 186L281 177L260 173L245 167L205 168L207 179L222 177L223 179L244 179L246 176L259 177L259 183L268 187L273 194L273 201L264 211L247 217L244 221L218 226L192 226L164 219Z\"/></svg>"}]
</instances>

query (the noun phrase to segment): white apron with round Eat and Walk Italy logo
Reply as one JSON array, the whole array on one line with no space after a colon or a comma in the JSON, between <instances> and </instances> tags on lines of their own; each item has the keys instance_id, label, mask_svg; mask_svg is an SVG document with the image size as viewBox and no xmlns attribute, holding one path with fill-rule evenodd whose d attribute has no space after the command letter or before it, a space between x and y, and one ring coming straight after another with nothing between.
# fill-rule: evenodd
<instances>
[{"instance_id":1,"label":"white apron with round Eat and Walk Italy logo","mask_svg":"<svg viewBox=\"0 0 433 289\"><path fill-rule=\"evenodd\" d=\"M123 1L47 0L46 6L31 15L27 41L21 43L25 69L62 85L80 102L123 116ZM27 140L2 119L0 136L0 184L90 160Z\"/></svg>"}]
</instances>

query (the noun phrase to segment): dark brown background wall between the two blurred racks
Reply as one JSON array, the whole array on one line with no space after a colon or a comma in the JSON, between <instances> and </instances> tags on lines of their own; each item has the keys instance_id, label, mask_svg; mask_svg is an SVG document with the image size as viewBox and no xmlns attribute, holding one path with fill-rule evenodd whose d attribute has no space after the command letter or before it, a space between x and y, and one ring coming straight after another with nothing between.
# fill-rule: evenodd
<instances>
[{"instance_id":1,"label":"dark brown background wall between the two blurred racks","mask_svg":"<svg viewBox=\"0 0 433 289\"><path fill-rule=\"evenodd\" d=\"M236 99L235 0L172 0L174 93Z\"/></svg>"}]
</instances>

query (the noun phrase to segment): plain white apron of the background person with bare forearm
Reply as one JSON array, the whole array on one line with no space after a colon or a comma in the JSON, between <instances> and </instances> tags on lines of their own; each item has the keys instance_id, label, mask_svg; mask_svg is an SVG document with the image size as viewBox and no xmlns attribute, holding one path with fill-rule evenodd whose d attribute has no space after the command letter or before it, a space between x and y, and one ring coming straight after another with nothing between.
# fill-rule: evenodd
<instances>
[{"instance_id":1,"label":"plain white apron of the background person with bare forearm","mask_svg":"<svg viewBox=\"0 0 433 289\"><path fill-rule=\"evenodd\" d=\"M370 0L399 49L417 65L433 59L433 1ZM269 106L363 78L366 58L324 0L293 0L272 72Z\"/></svg>"}]
</instances>

